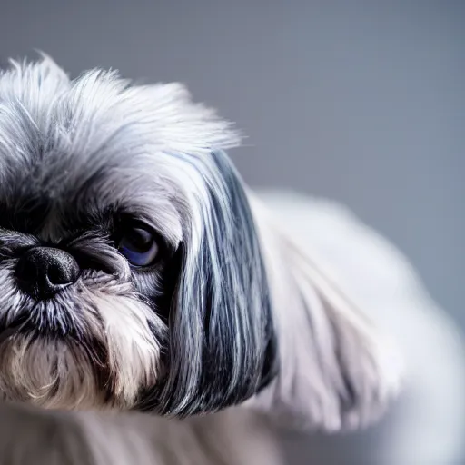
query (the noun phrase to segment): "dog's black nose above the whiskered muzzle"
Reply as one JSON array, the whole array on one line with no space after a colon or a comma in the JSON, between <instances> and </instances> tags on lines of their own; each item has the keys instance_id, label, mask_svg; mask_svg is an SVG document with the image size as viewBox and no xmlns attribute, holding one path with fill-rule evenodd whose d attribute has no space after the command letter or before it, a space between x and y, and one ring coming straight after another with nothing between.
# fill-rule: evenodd
<instances>
[{"instance_id":1,"label":"dog's black nose above the whiskered muzzle","mask_svg":"<svg viewBox=\"0 0 465 465\"><path fill-rule=\"evenodd\" d=\"M79 265L68 252L53 247L35 247L19 260L16 277L35 297L50 297L79 277Z\"/></svg>"}]
</instances>

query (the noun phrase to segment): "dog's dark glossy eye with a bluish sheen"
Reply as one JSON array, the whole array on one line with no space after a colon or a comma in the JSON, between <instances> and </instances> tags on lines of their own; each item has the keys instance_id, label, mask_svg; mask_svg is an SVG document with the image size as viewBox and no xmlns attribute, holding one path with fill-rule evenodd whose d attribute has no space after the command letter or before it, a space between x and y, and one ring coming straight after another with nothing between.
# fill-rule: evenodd
<instances>
[{"instance_id":1,"label":"dog's dark glossy eye with a bluish sheen","mask_svg":"<svg viewBox=\"0 0 465 465\"><path fill-rule=\"evenodd\" d=\"M151 265L157 254L155 235L144 225L137 224L124 229L118 242L118 251L134 266Z\"/></svg>"}]
</instances>

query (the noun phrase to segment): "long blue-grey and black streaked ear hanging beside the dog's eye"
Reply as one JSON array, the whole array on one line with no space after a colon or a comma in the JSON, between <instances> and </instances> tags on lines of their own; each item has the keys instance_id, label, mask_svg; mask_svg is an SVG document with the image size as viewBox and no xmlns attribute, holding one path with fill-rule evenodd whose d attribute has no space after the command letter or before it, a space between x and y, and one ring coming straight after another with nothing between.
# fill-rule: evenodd
<instances>
[{"instance_id":1,"label":"long blue-grey and black streaked ear hanging beside the dog's eye","mask_svg":"<svg viewBox=\"0 0 465 465\"><path fill-rule=\"evenodd\" d=\"M222 151L185 156L190 182L170 315L160 411L180 416L240 403L272 377L269 288L242 180Z\"/></svg>"}]
</instances>

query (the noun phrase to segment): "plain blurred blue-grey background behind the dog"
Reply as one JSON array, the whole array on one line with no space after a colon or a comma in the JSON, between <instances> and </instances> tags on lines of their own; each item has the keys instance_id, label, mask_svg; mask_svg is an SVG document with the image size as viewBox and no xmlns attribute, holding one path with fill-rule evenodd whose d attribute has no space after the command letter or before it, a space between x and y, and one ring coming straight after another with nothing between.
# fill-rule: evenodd
<instances>
[{"instance_id":1,"label":"plain blurred blue-grey background behind the dog","mask_svg":"<svg viewBox=\"0 0 465 465\"><path fill-rule=\"evenodd\" d=\"M465 2L2 0L0 58L34 49L188 84L249 135L231 153L248 183L346 203L465 328ZM324 464L374 463L383 428ZM325 440L286 442L319 463Z\"/></svg>"}]
</instances>

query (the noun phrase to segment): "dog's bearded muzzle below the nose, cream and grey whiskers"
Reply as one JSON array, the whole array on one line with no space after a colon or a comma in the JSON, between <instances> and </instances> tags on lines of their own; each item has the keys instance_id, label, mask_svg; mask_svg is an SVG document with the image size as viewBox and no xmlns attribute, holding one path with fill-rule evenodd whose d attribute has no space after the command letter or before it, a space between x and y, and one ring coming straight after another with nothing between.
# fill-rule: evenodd
<instances>
[{"instance_id":1,"label":"dog's bearded muzzle below the nose, cream and grey whiskers","mask_svg":"<svg viewBox=\"0 0 465 465\"><path fill-rule=\"evenodd\" d=\"M89 279L91 278L91 279ZM61 410L132 409L163 371L166 326L113 276L36 301L17 294L0 322L0 395Z\"/></svg>"}]
</instances>

